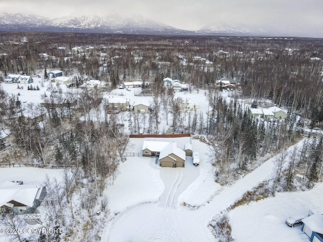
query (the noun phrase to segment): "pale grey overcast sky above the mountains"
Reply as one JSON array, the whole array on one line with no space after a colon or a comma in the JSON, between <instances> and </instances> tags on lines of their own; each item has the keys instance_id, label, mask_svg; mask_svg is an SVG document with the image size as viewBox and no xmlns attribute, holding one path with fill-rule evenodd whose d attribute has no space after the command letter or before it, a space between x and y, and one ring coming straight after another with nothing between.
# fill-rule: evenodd
<instances>
[{"instance_id":1,"label":"pale grey overcast sky above the mountains","mask_svg":"<svg viewBox=\"0 0 323 242\"><path fill-rule=\"evenodd\" d=\"M309 32L323 29L323 0L0 0L0 11L48 18L141 16L186 30L216 21Z\"/></svg>"}]
</instances>

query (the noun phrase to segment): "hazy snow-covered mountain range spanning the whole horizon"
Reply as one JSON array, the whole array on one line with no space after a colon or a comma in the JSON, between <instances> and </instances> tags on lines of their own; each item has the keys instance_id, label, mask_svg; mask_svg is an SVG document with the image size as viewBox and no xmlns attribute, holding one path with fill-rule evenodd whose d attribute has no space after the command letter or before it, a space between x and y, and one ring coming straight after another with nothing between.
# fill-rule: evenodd
<instances>
[{"instance_id":1,"label":"hazy snow-covered mountain range spanning the whole horizon","mask_svg":"<svg viewBox=\"0 0 323 242\"><path fill-rule=\"evenodd\" d=\"M38 15L0 13L0 31L40 32L83 32L83 33L124 33L124 34L165 34L165 35L234 35L234 36L299 36L303 30L291 32L288 29L263 29L249 27L242 23L217 21L197 31L177 29L166 24L144 18L115 16L66 16L49 19ZM317 30L313 30L317 33ZM319 30L322 32L323 31ZM308 36L312 37L312 36Z\"/></svg>"}]
</instances>

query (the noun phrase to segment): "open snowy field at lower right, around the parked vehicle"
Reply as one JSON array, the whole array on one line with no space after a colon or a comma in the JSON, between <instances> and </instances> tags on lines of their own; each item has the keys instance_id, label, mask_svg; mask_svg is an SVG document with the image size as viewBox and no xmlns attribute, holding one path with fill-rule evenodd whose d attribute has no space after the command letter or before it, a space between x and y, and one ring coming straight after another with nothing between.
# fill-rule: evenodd
<instances>
[{"instance_id":1,"label":"open snowy field at lower right, around the parked vehicle","mask_svg":"<svg viewBox=\"0 0 323 242\"><path fill-rule=\"evenodd\" d=\"M241 206L230 212L235 241L308 242L302 226L289 227L285 220L290 216L307 217L308 210L323 205L323 184L303 193L279 193L257 203Z\"/></svg>"}]
</instances>

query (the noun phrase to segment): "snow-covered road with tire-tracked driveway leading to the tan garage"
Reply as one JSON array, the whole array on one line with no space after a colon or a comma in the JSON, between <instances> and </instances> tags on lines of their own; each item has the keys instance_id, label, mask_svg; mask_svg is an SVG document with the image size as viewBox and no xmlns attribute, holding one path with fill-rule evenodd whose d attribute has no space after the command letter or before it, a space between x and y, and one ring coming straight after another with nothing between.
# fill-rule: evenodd
<instances>
[{"instance_id":1,"label":"snow-covered road with tire-tracked driveway leading to the tan garage","mask_svg":"<svg viewBox=\"0 0 323 242\"><path fill-rule=\"evenodd\" d=\"M209 221L245 192L270 178L274 169L272 161L273 158L267 160L197 210L176 206L178 194L182 192L179 188L182 184L186 184L182 189L188 186L186 179L189 177L183 173L186 167L173 169L176 170L175 175L174 172L167 174L167 170L161 170L160 177L164 181L165 191L160 203L128 209L116 218L109 235L102 236L102 241L214 241L207 227ZM282 238L280 241L285 240Z\"/></svg>"}]
</instances>

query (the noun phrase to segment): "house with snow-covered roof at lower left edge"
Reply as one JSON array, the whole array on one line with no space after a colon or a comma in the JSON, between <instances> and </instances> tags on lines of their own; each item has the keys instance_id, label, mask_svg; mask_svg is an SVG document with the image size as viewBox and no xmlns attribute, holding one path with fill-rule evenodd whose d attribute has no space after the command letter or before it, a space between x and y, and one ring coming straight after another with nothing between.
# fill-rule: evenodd
<instances>
[{"instance_id":1,"label":"house with snow-covered roof at lower left edge","mask_svg":"<svg viewBox=\"0 0 323 242\"><path fill-rule=\"evenodd\" d=\"M33 213L46 196L46 188L24 185L23 181L5 181L0 184L0 211L2 213Z\"/></svg>"}]
</instances>

